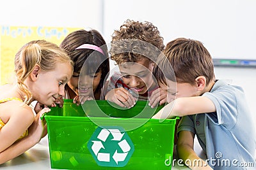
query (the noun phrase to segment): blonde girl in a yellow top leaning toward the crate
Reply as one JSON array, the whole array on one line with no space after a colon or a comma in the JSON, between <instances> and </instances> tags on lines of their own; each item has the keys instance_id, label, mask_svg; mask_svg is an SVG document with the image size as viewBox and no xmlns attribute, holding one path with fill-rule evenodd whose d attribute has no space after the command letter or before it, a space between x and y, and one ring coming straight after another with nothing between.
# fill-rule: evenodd
<instances>
[{"instance_id":1,"label":"blonde girl in a yellow top leaning toward the crate","mask_svg":"<svg viewBox=\"0 0 256 170\"><path fill-rule=\"evenodd\" d=\"M72 68L67 53L53 43L31 41L20 48L15 56L15 83L0 87L0 164L26 152L46 135L40 117L50 109L35 116L29 104L38 101L54 106L65 94Z\"/></svg>"}]
</instances>

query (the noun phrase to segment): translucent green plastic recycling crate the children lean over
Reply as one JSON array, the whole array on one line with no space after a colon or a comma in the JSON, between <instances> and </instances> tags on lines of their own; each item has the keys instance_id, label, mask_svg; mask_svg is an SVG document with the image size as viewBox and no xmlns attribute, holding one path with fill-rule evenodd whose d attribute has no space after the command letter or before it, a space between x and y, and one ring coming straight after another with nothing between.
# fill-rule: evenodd
<instances>
[{"instance_id":1,"label":"translucent green plastic recycling crate the children lean over","mask_svg":"<svg viewBox=\"0 0 256 170\"><path fill-rule=\"evenodd\" d=\"M152 109L147 101L137 101L133 108L124 110L107 101L86 101L77 106L65 99L63 108L51 108L44 115L51 167L171 169L177 118L163 122L146 118L162 107ZM100 111L106 115L99 117Z\"/></svg>"}]
</instances>

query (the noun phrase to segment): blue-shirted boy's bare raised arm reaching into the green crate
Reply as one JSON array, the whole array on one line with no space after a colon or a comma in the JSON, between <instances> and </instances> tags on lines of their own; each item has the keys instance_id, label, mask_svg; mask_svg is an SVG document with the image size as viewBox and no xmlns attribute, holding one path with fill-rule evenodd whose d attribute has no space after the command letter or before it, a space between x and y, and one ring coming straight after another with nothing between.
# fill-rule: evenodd
<instances>
[{"instance_id":1,"label":"blue-shirted boy's bare raised arm reaching into the green crate","mask_svg":"<svg viewBox=\"0 0 256 170\"><path fill-rule=\"evenodd\" d=\"M215 112L216 107L212 101L204 96L180 97L167 104L152 118L173 118L198 113Z\"/></svg>"}]
</instances>

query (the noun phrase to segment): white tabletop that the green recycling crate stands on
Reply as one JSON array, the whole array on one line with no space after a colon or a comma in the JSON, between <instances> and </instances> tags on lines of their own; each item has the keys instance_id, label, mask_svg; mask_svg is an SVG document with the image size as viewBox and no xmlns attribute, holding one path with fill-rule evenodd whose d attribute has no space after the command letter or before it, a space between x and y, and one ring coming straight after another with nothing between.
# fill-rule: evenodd
<instances>
[{"instance_id":1,"label":"white tabletop that the green recycling crate stands on","mask_svg":"<svg viewBox=\"0 0 256 170\"><path fill-rule=\"evenodd\" d=\"M195 140L195 152L202 158L205 157L202 148L198 144L198 141ZM173 159L177 159L177 154L173 154ZM19 157L16 157L13 160L10 160L4 164L0 165L0 169L6 170L28 170L28 169L51 169L51 162L49 157L49 146L47 136L43 138L40 143L33 146L27 152L23 153ZM175 169L189 169L186 166L179 166L175 162L175 166L172 167L172 170Z\"/></svg>"}]
</instances>

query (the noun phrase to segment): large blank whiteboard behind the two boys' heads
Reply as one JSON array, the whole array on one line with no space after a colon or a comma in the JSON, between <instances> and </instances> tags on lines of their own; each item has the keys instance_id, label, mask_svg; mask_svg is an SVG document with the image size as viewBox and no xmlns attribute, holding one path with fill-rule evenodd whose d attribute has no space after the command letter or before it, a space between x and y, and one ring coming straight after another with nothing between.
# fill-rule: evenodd
<instances>
[{"instance_id":1,"label":"large blank whiteboard behind the two boys' heads","mask_svg":"<svg viewBox=\"0 0 256 170\"><path fill-rule=\"evenodd\" d=\"M254 0L108 0L104 3L104 36L125 20L152 22L164 43L184 37L201 41L213 59L255 60ZM114 10L115 9L115 10Z\"/></svg>"}]
</instances>

